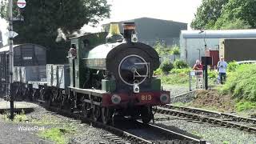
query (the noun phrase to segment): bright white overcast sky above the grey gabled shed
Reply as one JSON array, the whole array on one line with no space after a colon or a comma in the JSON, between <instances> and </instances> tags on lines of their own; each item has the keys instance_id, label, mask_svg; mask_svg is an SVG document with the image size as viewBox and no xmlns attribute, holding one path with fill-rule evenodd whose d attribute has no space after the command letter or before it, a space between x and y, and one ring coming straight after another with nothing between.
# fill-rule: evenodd
<instances>
[{"instance_id":1,"label":"bright white overcast sky above the grey gabled shed","mask_svg":"<svg viewBox=\"0 0 256 144\"><path fill-rule=\"evenodd\" d=\"M1 1L1 0L0 0ZM197 7L202 0L107 0L111 6L110 19L102 23L117 22L134 18L159 18L173 20L176 22L190 23L194 18ZM26 9L26 8L25 8ZM0 30L4 44L6 44L6 26L4 20L0 20ZM92 30L89 26L84 26L83 30L98 31L100 28ZM15 30L14 30L15 31Z\"/></svg>"}]
</instances>

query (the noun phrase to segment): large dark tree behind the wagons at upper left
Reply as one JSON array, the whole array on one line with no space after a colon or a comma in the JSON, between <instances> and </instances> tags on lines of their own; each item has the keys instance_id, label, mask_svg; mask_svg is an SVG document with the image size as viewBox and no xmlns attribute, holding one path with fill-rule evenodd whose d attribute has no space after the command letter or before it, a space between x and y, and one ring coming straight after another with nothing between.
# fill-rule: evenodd
<instances>
[{"instance_id":1,"label":"large dark tree behind the wagons at upper left","mask_svg":"<svg viewBox=\"0 0 256 144\"><path fill-rule=\"evenodd\" d=\"M6 4L7 0L2 0L0 16L7 19ZM25 21L14 22L14 30L19 34L14 42L37 43L53 49L67 46L68 42L56 42L58 35L69 37L88 22L95 24L102 18L109 18L110 6L106 0L26 0L26 8L20 14ZM14 16L18 16L16 5Z\"/></svg>"}]
</instances>

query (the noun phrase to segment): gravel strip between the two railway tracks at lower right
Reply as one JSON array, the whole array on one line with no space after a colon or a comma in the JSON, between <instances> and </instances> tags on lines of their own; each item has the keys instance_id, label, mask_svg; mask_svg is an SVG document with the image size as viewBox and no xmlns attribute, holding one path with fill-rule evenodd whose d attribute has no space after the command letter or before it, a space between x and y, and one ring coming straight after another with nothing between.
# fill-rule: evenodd
<instances>
[{"instance_id":1,"label":"gravel strip between the two railway tracks at lower right","mask_svg":"<svg viewBox=\"0 0 256 144\"><path fill-rule=\"evenodd\" d=\"M167 118L169 115L156 114L155 118ZM198 124L195 122L187 122L186 120L171 119L168 121L156 121L156 124L160 126L166 126L170 130L181 130L186 133L197 135L202 139L205 139L210 143L255 143L256 134L250 134L245 131L210 126L210 124L202 123Z\"/></svg>"}]
</instances>

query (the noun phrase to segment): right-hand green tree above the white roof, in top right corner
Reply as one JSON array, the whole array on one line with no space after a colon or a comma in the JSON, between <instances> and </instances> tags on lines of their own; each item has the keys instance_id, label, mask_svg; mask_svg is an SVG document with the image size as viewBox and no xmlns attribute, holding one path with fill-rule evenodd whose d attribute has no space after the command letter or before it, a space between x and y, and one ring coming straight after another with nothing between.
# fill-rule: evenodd
<instances>
[{"instance_id":1,"label":"right-hand green tree above the white roof, in top right corner","mask_svg":"<svg viewBox=\"0 0 256 144\"><path fill-rule=\"evenodd\" d=\"M230 0L215 23L215 29L222 29L227 25L233 29L256 28L256 1Z\"/></svg>"}]
</instances>

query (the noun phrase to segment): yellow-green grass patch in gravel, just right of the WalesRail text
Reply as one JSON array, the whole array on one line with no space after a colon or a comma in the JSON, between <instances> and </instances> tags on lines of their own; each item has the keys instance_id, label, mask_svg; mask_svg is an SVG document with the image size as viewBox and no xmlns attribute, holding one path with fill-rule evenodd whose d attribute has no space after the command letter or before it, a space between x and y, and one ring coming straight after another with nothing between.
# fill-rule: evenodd
<instances>
[{"instance_id":1,"label":"yellow-green grass patch in gravel, just right of the WalesRail text","mask_svg":"<svg viewBox=\"0 0 256 144\"><path fill-rule=\"evenodd\" d=\"M40 132L38 135L41 138L46 138L51 141L56 142L57 144L66 144L68 143L68 138L66 134L73 134L75 130L73 128L51 128Z\"/></svg>"}]
</instances>

